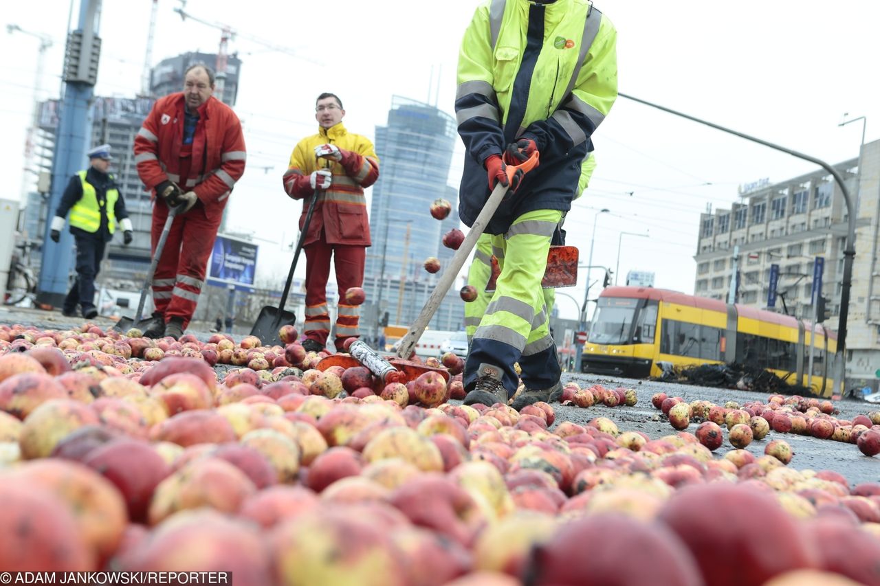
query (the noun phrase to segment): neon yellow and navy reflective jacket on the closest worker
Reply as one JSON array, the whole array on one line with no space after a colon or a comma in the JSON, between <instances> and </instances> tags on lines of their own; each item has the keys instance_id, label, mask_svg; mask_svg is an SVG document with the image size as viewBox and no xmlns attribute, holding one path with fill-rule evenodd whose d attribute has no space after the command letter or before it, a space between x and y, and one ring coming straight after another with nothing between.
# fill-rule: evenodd
<instances>
[{"instance_id":1,"label":"neon yellow and navy reflective jacket on the closest worker","mask_svg":"<svg viewBox=\"0 0 880 586\"><path fill-rule=\"evenodd\" d=\"M459 215L471 225L488 197L483 162L519 137L540 165L489 224L502 233L533 209L570 209L590 136L617 98L617 33L585 0L487 0L458 58L456 116L466 146Z\"/></svg>"}]
</instances>

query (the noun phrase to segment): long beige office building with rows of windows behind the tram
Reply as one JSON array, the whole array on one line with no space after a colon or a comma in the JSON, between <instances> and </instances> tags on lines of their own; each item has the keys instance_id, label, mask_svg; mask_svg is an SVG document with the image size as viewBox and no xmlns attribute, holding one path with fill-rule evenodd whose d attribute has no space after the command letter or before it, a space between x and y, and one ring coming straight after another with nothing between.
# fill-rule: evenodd
<instances>
[{"instance_id":1,"label":"long beige office building with rows of windows behind the tram","mask_svg":"<svg viewBox=\"0 0 880 586\"><path fill-rule=\"evenodd\" d=\"M862 146L858 157L833 165L853 199L855 259L847 312L847 389L877 388L880 368L880 141ZM836 329L840 315L847 206L831 174L817 169L740 189L730 209L700 216L695 295L727 299L737 266L737 303L811 320L816 259L824 265L822 295L831 313L825 326ZM734 251L738 247L738 257ZM736 260L736 262L735 262ZM775 298L771 267L778 266ZM775 271L775 269L774 269Z\"/></svg>"}]
</instances>

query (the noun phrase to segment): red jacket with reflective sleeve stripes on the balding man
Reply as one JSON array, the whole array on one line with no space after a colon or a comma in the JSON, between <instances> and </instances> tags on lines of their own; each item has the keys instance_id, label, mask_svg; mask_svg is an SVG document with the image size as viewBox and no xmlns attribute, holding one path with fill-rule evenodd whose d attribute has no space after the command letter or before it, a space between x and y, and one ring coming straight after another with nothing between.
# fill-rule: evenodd
<instances>
[{"instance_id":1,"label":"red jacket with reflective sleeve stripes on the balding man","mask_svg":"<svg viewBox=\"0 0 880 586\"><path fill-rule=\"evenodd\" d=\"M245 137L241 122L213 96L199 106L187 177L180 177L185 98L183 92L156 100L135 136L135 163L143 184L155 189L173 181L194 191L209 219L219 220L232 188L245 172Z\"/></svg>"}]
</instances>

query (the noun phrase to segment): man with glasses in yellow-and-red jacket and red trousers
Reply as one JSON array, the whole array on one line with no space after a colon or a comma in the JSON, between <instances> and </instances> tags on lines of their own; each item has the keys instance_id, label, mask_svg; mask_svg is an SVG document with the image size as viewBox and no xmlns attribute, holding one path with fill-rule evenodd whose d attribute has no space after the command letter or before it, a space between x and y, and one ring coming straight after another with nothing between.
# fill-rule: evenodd
<instances>
[{"instance_id":1,"label":"man with glasses in yellow-and-red jacket and red trousers","mask_svg":"<svg viewBox=\"0 0 880 586\"><path fill-rule=\"evenodd\" d=\"M345 303L345 292L363 284L363 264L370 245L370 222L363 188L379 176L379 160L373 144L365 136L349 133L342 126L341 100L332 93L322 93L315 102L317 135L301 140L290 155L284 173L284 191L303 201L299 229L303 229L305 211L312 197L315 211L305 235L305 326L303 348L317 352L326 348L330 335L326 284L330 276L330 257L334 256L337 305L337 350L348 338L356 338L359 312L356 305Z\"/></svg>"}]
</instances>

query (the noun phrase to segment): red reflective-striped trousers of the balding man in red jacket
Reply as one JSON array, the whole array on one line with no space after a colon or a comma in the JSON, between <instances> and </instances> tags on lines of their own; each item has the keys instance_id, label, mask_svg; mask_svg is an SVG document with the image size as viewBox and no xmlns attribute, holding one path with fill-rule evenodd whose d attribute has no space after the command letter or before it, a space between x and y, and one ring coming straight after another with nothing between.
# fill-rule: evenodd
<instances>
[{"instance_id":1,"label":"red reflective-striped trousers of the balding man in red jacket","mask_svg":"<svg viewBox=\"0 0 880 586\"><path fill-rule=\"evenodd\" d=\"M167 217L168 206L163 201L155 201L150 233L154 254ZM221 219L209 220L201 202L196 202L186 214L174 218L152 283L153 303L156 311L165 315L165 322L183 318L183 327L186 328L193 318Z\"/></svg>"}]
</instances>

